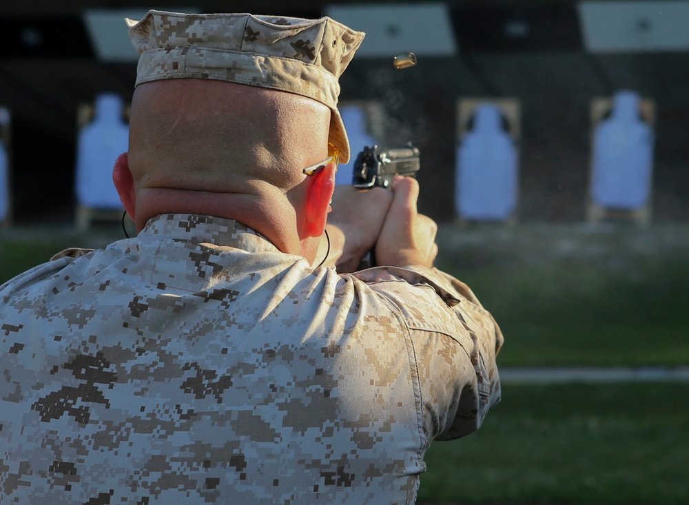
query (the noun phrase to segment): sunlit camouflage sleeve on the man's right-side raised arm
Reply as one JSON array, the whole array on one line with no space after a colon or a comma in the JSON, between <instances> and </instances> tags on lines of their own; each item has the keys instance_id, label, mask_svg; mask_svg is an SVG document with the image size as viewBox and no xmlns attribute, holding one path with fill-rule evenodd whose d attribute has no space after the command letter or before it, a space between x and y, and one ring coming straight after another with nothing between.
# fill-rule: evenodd
<instances>
[{"instance_id":1,"label":"sunlit camouflage sleeve on the man's right-side raised arm","mask_svg":"<svg viewBox=\"0 0 689 505\"><path fill-rule=\"evenodd\" d=\"M438 269L377 267L358 278L384 294L409 328L424 431L452 440L477 430L500 402L502 331L471 289Z\"/></svg>"}]
</instances>

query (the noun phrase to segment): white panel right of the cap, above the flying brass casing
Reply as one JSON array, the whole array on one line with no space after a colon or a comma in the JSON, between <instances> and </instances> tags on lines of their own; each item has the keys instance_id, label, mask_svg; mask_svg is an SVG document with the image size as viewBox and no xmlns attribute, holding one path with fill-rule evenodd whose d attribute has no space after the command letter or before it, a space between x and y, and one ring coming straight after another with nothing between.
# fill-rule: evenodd
<instances>
[{"instance_id":1,"label":"white panel right of the cap, above the flying brass casing","mask_svg":"<svg viewBox=\"0 0 689 505\"><path fill-rule=\"evenodd\" d=\"M453 56L457 44L447 7L441 3L327 6L326 14L354 30L366 32L358 57Z\"/></svg>"}]
</instances>

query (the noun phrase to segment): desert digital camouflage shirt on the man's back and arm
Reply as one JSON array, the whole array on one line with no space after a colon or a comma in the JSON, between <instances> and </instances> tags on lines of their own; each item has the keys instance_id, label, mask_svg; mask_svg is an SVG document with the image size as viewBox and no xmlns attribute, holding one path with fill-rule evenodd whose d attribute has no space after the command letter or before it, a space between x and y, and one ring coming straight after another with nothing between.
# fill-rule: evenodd
<instances>
[{"instance_id":1,"label":"desert digital camouflage shirt on the man's back and arm","mask_svg":"<svg viewBox=\"0 0 689 505\"><path fill-rule=\"evenodd\" d=\"M411 504L499 400L500 344L438 270L158 216L0 287L0 503Z\"/></svg>"}]
</instances>

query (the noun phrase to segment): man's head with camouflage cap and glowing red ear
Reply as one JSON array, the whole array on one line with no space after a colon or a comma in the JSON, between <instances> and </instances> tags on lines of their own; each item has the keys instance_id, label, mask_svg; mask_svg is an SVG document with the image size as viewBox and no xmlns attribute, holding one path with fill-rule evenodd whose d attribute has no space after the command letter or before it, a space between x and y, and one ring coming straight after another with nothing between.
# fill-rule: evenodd
<instances>
[{"instance_id":1,"label":"man's head with camouflage cap and glowing red ear","mask_svg":"<svg viewBox=\"0 0 689 505\"><path fill-rule=\"evenodd\" d=\"M151 11L127 25L141 59L113 177L138 228L189 212L243 220L283 251L320 236L336 166L302 168L329 143L349 158L338 78L363 34L251 14Z\"/></svg>"}]
</instances>

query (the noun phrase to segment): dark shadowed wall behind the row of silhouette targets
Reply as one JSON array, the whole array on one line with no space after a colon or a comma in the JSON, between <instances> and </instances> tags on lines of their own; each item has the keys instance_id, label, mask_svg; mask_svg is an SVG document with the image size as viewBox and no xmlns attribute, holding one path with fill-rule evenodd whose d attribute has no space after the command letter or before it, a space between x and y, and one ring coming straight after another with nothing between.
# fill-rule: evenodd
<instances>
[{"instance_id":1,"label":"dark shadowed wall behind the row of silhouette targets","mask_svg":"<svg viewBox=\"0 0 689 505\"><path fill-rule=\"evenodd\" d=\"M211 0L164 5L138 0L3 2L0 103L12 112L14 221L72 220L76 107L104 91L125 99L132 94L135 64L98 60L81 18L86 8L250 9L319 17L331 5L312 0L289 7L270 0L250 6ZM459 48L455 56L420 56L417 67L404 71L391 65L394 54L355 57L341 79L341 100L376 99L384 105L390 121L384 141L413 141L420 147L422 212L441 222L453 219L455 101L512 96L522 105L520 221L584 220L589 103L595 96L628 88L654 99L657 107L653 220L689 218L686 52L587 52L573 1L454 1L446 6ZM530 23L528 37L500 32L515 22ZM407 50L414 48L400 48Z\"/></svg>"}]
</instances>

